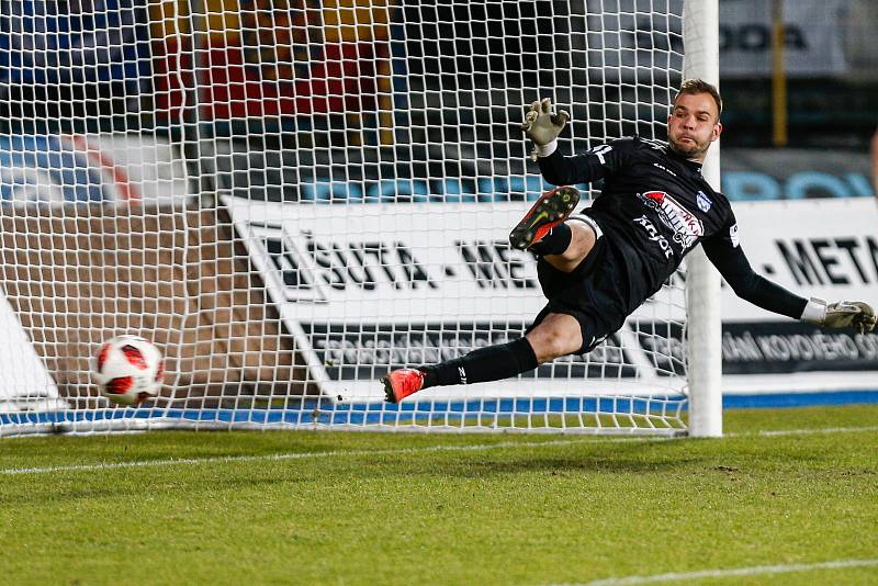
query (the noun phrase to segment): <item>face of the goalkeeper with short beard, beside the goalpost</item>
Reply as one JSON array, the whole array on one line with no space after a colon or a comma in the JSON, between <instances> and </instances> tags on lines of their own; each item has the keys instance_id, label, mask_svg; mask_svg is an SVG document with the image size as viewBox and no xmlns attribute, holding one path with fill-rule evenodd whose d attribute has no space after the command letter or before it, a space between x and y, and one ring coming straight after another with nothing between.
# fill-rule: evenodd
<instances>
[{"instance_id":1,"label":"face of the goalkeeper with short beard, beside the goalpost","mask_svg":"<svg viewBox=\"0 0 878 586\"><path fill-rule=\"evenodd\" d=\"M720 137L719 108L709 93L682 93L667 116L667 144L678 155L702 162Z\"/></svg>"}]
</instances>

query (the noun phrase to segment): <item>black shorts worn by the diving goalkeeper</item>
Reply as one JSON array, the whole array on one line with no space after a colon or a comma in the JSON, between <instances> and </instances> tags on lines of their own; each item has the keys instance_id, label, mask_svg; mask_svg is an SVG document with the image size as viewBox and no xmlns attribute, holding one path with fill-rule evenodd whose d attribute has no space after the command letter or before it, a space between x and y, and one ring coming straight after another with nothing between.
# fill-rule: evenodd
<instances>
[{"instance_id":1,"label":"black shorts worn by the diving goalkeeper","mask_svg":"<svg viewBox=\"0 0 878 586\"><path fill-rule=\"evenodd\" d=\"M549 303L537 314L527 331L549 314L570 315L579 323L583 335L583 346L575 353L590 352L610 334L618 331L642 302L637 298L640 295L629 277L632 261L638 262L631 258L627 247L619 246L618 239L606 233L572 272L559 271L540 257L537 277Z\"/></svg>"}]
</instances>

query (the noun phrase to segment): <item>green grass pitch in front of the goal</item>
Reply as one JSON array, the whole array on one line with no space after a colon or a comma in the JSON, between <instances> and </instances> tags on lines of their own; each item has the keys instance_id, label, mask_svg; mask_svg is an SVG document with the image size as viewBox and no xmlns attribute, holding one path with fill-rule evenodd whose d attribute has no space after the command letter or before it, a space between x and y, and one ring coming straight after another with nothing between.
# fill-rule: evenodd
<instances>
[{"instance_id":1,"label":"green grass pitch in front of the goal","mask_svg":"<svg viewBox=\"0 0 878 586\"><path fill-rule=\"evenodd\" d=\"M729 410L710 440L4 439L0 583L653 584L778 566L665 583L878 584L876 421L845 406Z\"/></svg>"}]
</instances>

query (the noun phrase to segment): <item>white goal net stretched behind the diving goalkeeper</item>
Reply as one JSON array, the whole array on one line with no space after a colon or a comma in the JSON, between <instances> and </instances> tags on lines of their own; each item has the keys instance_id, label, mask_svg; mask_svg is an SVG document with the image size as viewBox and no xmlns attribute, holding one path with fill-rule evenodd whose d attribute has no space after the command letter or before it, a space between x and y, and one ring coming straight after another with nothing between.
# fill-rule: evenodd
<instances>
[{"instance_id":1,"label":"white goal net stretched behind the diving goalkeeper","mask_svg":"<svg viewBox=\"0 0 878 586\"><path fill-rule=\"evenodd\" d=\"M685 433L685 272L596 350L383 402L524 335L508 230L565 154L663 139L683 2L0 0L0 435L160 428ZM599 184L579 185L586 202ZM162 393L100 395L105 339Z\"/></svg>"}]
</instances>

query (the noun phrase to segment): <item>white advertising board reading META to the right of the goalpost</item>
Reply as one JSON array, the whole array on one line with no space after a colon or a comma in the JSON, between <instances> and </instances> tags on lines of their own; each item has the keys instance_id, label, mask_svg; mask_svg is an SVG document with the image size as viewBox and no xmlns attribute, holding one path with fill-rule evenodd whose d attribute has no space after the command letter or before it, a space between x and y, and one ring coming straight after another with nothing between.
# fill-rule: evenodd
<instances>
[{"instance_id":1,"label":"white advertising board reading META to the right of the goalpost","mask_svg":"<svg viewBox=\"0 0 878 586\"><path fill-rule=\"evenodd\" d=\"M831 199L734 204L753 268L801 296L878 307L878 202ZM723 388L878 388L878 333L821 329L722 293Z\"/></svg>"}]
</instances>

